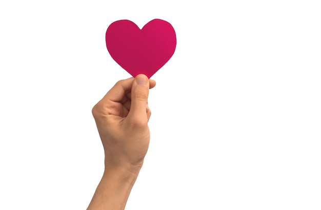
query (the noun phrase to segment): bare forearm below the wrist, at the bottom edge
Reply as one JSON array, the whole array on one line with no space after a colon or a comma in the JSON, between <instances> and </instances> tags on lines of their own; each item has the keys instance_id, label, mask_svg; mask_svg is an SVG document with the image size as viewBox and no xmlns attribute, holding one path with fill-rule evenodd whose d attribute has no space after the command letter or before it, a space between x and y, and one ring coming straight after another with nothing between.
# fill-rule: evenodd
<instances>
[{"instance_id":1,"label":"bare forearm below the wrist, at the bottom edge","mask_svg":"<svg viewBox=\"0 0 321 210\"><path fill-rule=\"evenodd\" d=\"M124 209L139 170L140 168L127 170L105 167L102 180L99 182L87 210Z\"/></svg>"}]
</instances>

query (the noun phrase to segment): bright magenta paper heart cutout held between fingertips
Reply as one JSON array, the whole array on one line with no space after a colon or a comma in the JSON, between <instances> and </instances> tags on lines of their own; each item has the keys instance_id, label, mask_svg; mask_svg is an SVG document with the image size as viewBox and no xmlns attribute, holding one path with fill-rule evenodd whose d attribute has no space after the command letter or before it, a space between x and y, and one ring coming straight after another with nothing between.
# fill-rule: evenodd
<instances>
[{"instance_id":1,"label":"bright magenta paper heart cutout held between fingertips","mask_svg":"<svg viewBox=\"0 0 321 210\"><path fill-rule=\"evenodd\" d=\"M106 31L106 46L111 57L133 77L150 78L172 57L176 34L172 25L153 19L142 30L130 20L117 20Z\"/></svg>"}]
</instances>

